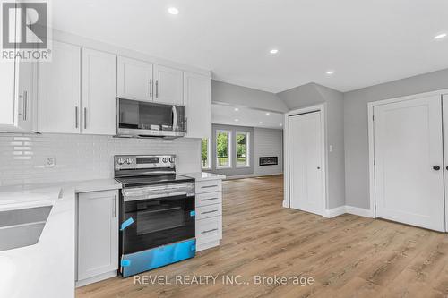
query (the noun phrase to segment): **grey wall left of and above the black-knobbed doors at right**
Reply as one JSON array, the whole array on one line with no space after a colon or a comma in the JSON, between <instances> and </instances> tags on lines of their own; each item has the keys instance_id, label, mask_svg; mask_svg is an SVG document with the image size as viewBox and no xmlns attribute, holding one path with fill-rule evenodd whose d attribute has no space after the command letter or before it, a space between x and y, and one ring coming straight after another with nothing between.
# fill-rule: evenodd
<instances>
[{"instance_id":1,"label":"grey wall left of and above the black-knobbed doors at right","mask_svg":"<svg viewBox=\"0 0 448 298\"><path fill-rule=\"evenodd\" d=\"M448 69L344 94L346 204L369 209L367 103L448 88Z\"/></svg>"}]
</instances>

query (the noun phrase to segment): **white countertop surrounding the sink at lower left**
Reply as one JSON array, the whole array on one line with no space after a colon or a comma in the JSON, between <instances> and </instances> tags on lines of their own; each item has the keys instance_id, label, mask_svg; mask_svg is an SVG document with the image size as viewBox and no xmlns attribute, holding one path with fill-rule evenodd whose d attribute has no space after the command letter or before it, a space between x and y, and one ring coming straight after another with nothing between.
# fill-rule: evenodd
<instances>
[{"instance_id":1,"label":"white countertop surrounding the sink at lower left","mask_svg":"<svg viewBox=\"0 0 448 298\"><path fill-rule=\"evenodd\" d=\"M73 188L61 187L9 192L2 188L2 209L12 206L53 205L39 242L0 251L0 297L74 297L75 196ZM15 194L14 194L15 193ZM12 199L13 198L13 199Z\"/></svg>"}]
</instances>

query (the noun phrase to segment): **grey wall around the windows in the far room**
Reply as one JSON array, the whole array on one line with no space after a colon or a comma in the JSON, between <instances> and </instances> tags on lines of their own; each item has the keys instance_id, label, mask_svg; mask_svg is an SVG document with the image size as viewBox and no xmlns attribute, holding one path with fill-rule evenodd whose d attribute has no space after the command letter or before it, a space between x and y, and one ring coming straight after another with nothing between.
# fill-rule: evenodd
<instances>
[{"instance_id":1,"label":"grey wall around the windows in the far room","mask_svg":"<svg viewBox=\"0 0 448 298\"><path fill-rule=\"evenodd\" d=\"M225 130L232 132L232 167L231 168L216 168L216 131L217 130ZM237 156L237 150L235 144L235 136L237 132L249 132L250 133L250 140L249 140L249 158L250 160L250 166L248 167L237 167L237 159L235 158ZM251 175L254 174L254 128L253 127L246 127L246 126L233 126L233 125L220 125L220 124L213 124L212 125L212 131L211 131L211 170L205 171L205 172L212 172L216 174L226 175L226 176L234 176L234 175Z\"/></svg>"}]
</instances>

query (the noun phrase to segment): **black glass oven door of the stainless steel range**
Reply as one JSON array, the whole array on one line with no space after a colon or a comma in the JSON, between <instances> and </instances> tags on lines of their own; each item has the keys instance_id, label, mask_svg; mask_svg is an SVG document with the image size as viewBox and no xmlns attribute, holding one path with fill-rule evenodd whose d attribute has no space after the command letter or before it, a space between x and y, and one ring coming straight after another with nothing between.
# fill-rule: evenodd
<instances>
[{"instance_id":1,"label":"black glass oven door of the stainless steel range","mask_svg":"<svg viewBox=\"0 0 448 298\"><path fill-rule=\"evenodd\" d=\"M171 193L166 197L146 197L122 198L122 223L130 218L134 223L120 232L121 254L194 238L194 195Z\"/></svg>"}]
</instances>

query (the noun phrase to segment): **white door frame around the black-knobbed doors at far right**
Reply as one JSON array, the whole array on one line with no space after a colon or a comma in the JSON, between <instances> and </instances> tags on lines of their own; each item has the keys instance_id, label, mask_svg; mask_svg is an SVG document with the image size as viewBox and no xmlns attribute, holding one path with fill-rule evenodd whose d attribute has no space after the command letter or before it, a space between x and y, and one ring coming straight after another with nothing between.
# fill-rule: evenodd
<instances>
[{"instance_id":1,"label":"white door frame around the black-knobbed doors at far right","mask_svg":"<svg viewBox=\"0 0 448 298\"><path fill-rule=\"evenodd\" d=\"M440 96L442 98L445 94L448 94L448 89L439 89L430 92L418 93L400 98L388 98L367 103L367 123L368 123L368 173L369 173L369 213L372 217L376 218L376 197L375 197L375 138L374 138L374 108L375 106L382 106L395 102L407 101L418 98L426 98L431 96ZM442 118L444 122L444 118ZM446 209L446 202L445 202Z\"/></svg>"}]
</instances>

